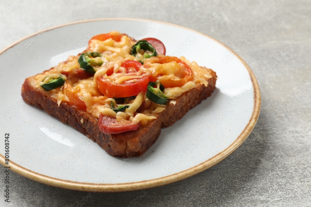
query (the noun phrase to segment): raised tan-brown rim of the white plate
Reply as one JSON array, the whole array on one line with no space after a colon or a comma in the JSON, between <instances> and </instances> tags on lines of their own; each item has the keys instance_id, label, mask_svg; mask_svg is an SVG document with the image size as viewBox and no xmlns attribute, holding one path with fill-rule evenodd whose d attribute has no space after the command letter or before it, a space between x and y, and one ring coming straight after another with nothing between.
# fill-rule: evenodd
<instances>
[{"instance_id":1,"label":"raised tan-brown rim of the white plate","mask_svg":"<svg viewBox=\"0 0 311 207\"><path fill-rule=\"evenodd\" d=\"M174 27L180 27L183 29L190 30L192 32L201 34L207 38L210 38L218 43L220 43L222 46L225 48L229 49L233 55L237 56L239 60L243 63L243 65L246 67L248 70L248 74L251 77L251 81L254 87L254 107L253 107L253 112L252 116L248 121L248 124L245 126L244 130L239 134L239 136L235 139L234 142L232 142L225 150L221 151L220 153L214 155L208 160L205 160L204 162L197 164L189 169L183 170L178 173L174 173L172 175L164 176L161 178L155 178L151 180L144 180L144 181L139 181L139 182L128 182L128 183L118 183L118 184L105 184L105 183L87 183L87 182L75 182L75 181L69 181L69 180L62 180L58 178L53 178L47 175L43 175L40 173L36 173L30 169L26 169L22 167L19 164L16 164L12 161L10 161L10 170L13 172L29 178L31 180L34 180L36 182L40 182L46 185L50 185L53 187L60 187L64 189L70 189L70 190L78 190L78 191L89 191L89 192L122 192L122 191L134 191L134 190L142 190L142 189L147 189L147 188L152 188L152 187L159 187L163 185L167 185L173 182L178 182L180 180L189 178L193 175L196 175L198 173L203 172L204 170L207 170L211 168L212 166L218 164L220 161L224 160L226 157L228 157L231 153L233 153L241 144L248 138L249 134L252 132L255 124L257 123L259 113L260 113L260 108L261 108L261 94L260 94L260 89L258 85L258 81L253 74L253 71L250 69L250 67L247 65L247 63L235 52L233 51L230 47L226 46L224 43L221 43L219 40L212 38L211 36L204 34L202 32L199 32L194 29L190 29L188 27L176 25L173 23L169 22L164 22L164 21L159 21L159 20L149 20L149 19L140 19L140 18L98 18L98 19L89 19L89 20L80 20L80 21L74 21L74 22L69 22L65 24L60 24L56 25L53 27L50 27L48 29L45 29L43 32L47 32L53 29L58 29L60 27L65 27L68 25L75 25L75 24L81 24L81 23L86 23L86 22L94 22L94 21L111 21L111 20L134 20L134 21L145 21L145 22L155 22L155 23L160 23L160 24L166 24L166 25L171 25ZM2 50L0 50L0 55L10 49L11 47L15 46L16 44L20 43L21 41L24 41L25 39L31 38L38 33L33 33L30 35L27 35L14 43L4 47ZM2 154L0 154L0 164L5 166L5 158Z\"/></svg>"}]
</instances>

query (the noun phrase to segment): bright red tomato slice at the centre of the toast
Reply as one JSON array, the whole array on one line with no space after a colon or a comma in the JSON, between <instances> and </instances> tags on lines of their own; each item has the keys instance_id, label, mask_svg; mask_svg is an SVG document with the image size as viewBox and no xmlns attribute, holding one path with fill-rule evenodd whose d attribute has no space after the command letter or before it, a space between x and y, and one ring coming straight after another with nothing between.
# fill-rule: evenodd
<instances>
[{"instance_id":1,"label":"bright red tomato slice at the centre of the toast","mask_svg":"<svg viewBox=\"0 0 311 207\"><path fill-rule=\"evenodd\" d=\"M127 73L136 72L142 66L141 63L137 61L127 60L122 64L126 68ZM135 69L136 71L133 71ZM112 71L109 70L111 75ZM150 80L149 75L145 75L140 79L137 79L135 82L126 82L126 83L114 83L108 79L102 77L97 77L97 86L100 92L104 95L111 98L121 98L121 97L130 97L136 96L141 91L146 91L147 86Z\"/></svg>"}]
</instances>

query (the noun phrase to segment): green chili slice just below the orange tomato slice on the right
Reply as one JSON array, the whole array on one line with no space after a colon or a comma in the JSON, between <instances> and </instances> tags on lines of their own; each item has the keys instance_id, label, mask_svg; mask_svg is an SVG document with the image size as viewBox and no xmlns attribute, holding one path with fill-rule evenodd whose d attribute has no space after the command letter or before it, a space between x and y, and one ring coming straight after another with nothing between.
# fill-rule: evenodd
<instances>
[{"instance_id":1,"label":"green chili slice just below the orange tomato slice on the right","mask_svg":"<svg viewBox=\"0 0 311 207\"><path fill-rule=\"evenodd\" d=\"M154 88L157 86L157 88ZM164 86L160 82L149 82L146 96L156 104L165 105L169 99L163 93Z\"/></svg>"}]
</instances>

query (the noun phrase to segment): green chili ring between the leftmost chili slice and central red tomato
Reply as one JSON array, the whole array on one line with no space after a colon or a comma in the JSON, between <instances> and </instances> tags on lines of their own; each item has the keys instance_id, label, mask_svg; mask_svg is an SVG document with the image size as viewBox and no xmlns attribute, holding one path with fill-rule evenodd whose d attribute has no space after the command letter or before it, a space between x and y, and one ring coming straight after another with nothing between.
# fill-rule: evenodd
<instances>
[{"instance_id":1,"label":"green chili ring between the leftmost chili slice and central red tomato","mask_svg":"<svg viewBox=\"0 0 311 207\"><path fill-rule=\"evenodd\" d=\"M78 59L80 68L88 73L95 74L96 71L93 66L100 66L104 63L104 61L101 59L102 56L103 54L98 52L86 52L81 54Z\"/></svg>"}]
</instances>

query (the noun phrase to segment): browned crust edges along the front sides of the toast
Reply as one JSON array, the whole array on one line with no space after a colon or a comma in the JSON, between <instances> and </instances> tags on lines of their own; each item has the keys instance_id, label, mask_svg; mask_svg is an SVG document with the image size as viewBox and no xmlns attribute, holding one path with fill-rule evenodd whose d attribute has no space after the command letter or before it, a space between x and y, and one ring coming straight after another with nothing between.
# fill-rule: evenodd
<instances>
[{"instance_id":1,"label":"browned crust edges along the front sides of the toast","mask_svg":"<svg viewBox=\"0 0 311 207\"><path fill-rule=\"evenodd\" d=\"M39 109L43 109L63 123L71 125L82 134L97 142L110 155L118 157L133 157L143 155L160 136L161 128L169 127L181 119L190 109L197 106L204 99L211 96L215 89L216 73L211 70L212 78L208 80L208 86L196 85L195 88L185 92L177 98L176 104L169 104L167 108L156 114L156 119L150 120L146 126L137 131L123 132L106 135L98 126L98 119L85 110L78 110L74 105L66 102L60 103L50 96L49 92L34 85L35 76L25 80L21 95L24 101ZM81 123L83 118L83 123Z\"/></svg>"}]
</instances>

